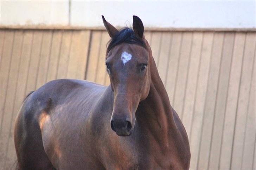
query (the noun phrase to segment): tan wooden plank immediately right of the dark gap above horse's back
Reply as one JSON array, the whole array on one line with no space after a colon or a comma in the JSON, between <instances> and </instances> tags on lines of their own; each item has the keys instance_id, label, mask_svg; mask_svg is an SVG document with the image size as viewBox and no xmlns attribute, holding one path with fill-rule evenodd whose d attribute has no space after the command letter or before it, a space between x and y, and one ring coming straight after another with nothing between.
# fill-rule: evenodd
<instances>
[{"instance_id":1,"label":"tan wooden plank immediately right of the dark gap above horse's back","mask_svg":"<svg viewBox=\"0 0 256 170\"><path fill-rule=\"evenodd\" d=\"M91 49L88 59L86 80L95 82L97 74L98 57L101 48L101 36L102 32L92 32Z\"/></svg>"}]
</instances>

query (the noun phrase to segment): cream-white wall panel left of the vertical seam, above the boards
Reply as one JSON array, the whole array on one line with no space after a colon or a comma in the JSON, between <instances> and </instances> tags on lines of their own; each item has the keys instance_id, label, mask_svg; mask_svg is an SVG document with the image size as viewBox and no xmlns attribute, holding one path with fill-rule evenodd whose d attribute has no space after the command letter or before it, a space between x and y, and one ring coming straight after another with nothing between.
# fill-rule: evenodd
<instances>
[{"instance_id":1,"label":"cream-white wall panel left of the vertical seam, above the boards","mask_svg":"<svg viewBox=\"0 0 256 170\"><path fill-rule=\"evenodd\" d=\"M67 25L69 1L0 0L1 25Z\"/></svg>"}]
</instances>

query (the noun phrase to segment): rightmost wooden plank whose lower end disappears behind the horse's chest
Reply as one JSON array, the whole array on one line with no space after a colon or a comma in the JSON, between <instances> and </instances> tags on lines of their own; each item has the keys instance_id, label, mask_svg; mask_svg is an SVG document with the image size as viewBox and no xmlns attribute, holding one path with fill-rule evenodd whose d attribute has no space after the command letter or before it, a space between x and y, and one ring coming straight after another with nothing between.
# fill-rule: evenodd
<instances>
[{"instance_id":1,"label":"rightmost wooden plank whose lower end disappears behind the horse's chest","mask_svg":"<svg viewBox=\"0 0 256 170\"><path fill-rule=\"evenodd\" d=\"M181 115L181 120L187 131L190 134L192 123L194 98L196 96L197 75L199 71L200 52L202 47L203 33L196 32L193 34L192 47L191 47L191 60L187 78L186 96L184 102L184 109Z\"/></svg>"}]
</instances>

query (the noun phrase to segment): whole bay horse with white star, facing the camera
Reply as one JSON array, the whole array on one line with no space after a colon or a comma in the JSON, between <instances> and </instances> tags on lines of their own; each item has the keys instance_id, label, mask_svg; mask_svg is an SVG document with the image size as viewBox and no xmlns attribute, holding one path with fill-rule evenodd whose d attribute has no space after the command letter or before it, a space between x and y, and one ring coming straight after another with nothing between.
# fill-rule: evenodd
<instances>
[{"instance_id":1,"label":"whole bay horse with white star, facing the camera","mask_svg":"<svg viewBox=\"0 0 256 170\"><path fill-rule=\"evenodd\" d=\"M14 128L19 169L188 169L186 130L142 21L117 30L102 19L110 85L60 79L28 95Z\"/></svg>"}]
</instances>

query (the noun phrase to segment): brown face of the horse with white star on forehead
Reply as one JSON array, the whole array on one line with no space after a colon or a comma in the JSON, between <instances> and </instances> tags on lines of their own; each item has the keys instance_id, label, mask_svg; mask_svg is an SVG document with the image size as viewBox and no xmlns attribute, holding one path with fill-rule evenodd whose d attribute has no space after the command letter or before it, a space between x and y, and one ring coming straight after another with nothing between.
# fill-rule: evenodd
<instances>
[{"instance_id":1,"label":"brown face of the horse with white star on forehead","mask_svg":"<svg viewBox=\"0 0 256 170\"><path fill-rule=\"evenodd\" d=\"M104 18L103 22L112 37L113 32L116 33L117 30L109 26ZM134 32L136 33L135 28ZM146 41L143 30L141 40ZM151 83L149 53L140 45L123 42L109 50L105 62L111 88L114 91L110 126L117 135L128 136L132 134L134 128L135 112L139 102L149 93Z\"/></svg>"}]
</instances>

